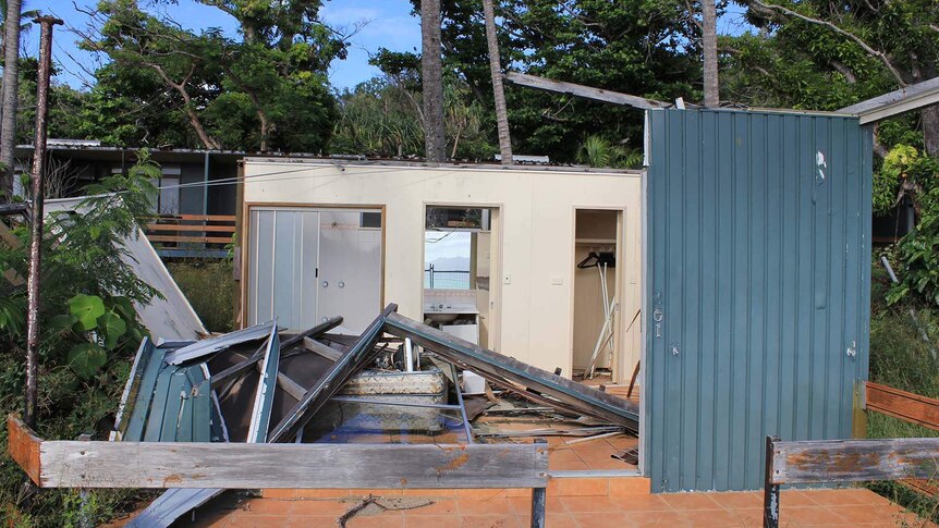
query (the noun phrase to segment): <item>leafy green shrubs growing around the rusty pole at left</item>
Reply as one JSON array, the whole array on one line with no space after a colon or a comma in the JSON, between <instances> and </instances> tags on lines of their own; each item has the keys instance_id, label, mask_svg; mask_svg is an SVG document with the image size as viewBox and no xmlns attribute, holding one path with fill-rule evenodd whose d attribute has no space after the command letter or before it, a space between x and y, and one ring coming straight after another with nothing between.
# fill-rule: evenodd
<instances>
[{"instance_id":1,"label":"leafy green shrubs growing around the rusty pole at left","mask_svg":"<svg viewBox=\"0 0 939 528\"><path fill-rule=\"evenodd\" d=\"M155 189L148 177L159 168L139 154L127 176L105 179L92 192L106 193L76 206L75 213L51 214L42 243L40 288L39 402L37 423L45 438L74 440L110 429L130 363L145 335L133 303L145 304L153 287L120 259L123 240L137 233L138 216L150 210ZM26 226L14 234L19 248L0 245L0 269L26 275ZM21 410L25 336L25 285L0 280L0 413ZM110 520L135 507L134 490L36 490L7 455L0 430L0 517L11 526L76 526Z\"/></svg>"}]
</instances>

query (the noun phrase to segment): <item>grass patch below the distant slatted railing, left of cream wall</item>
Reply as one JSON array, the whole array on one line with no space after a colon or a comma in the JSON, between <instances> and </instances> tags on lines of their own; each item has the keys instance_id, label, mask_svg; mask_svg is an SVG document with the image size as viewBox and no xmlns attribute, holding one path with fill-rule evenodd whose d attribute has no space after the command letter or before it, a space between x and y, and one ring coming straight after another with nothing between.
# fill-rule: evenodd
<instances>
[{"instance_id":1,"label":"grass patch below the distant slatted railing, left of cream wall","mask_svg":"<svg viewBox=\"0 0 939 528\"><path fill-rule=\"evenodd\" d=\"M185 259L167 268L210 332L231 332L234 321L234 277L229 259Z\"/></svg>"}]
</instances>

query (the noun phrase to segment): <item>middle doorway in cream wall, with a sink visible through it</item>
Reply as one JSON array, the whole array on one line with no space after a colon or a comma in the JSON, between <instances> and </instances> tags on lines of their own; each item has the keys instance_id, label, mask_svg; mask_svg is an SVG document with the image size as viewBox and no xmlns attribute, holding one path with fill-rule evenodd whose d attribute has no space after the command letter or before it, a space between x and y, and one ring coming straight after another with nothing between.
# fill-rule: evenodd
<instances>
[{"instance_id":1,"label":"middle doorway in cream wall, with a sink visible through it","mask_svg":"<svg viewBox=\"0 0 939 528\"><path fill-rule=\"evenodd\" d=\"M489 349L498 349L497 224L495 208L448 205L425 211L424 320Z\"/></svg>"}]
</instances>

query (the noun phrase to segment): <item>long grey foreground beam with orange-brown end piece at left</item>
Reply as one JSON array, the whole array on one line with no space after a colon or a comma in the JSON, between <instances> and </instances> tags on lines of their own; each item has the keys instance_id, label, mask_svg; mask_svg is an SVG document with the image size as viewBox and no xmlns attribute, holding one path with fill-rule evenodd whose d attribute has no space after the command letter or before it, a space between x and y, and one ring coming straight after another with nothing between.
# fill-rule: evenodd
<instances>
[{"instance_id":1,"label":"long grey foreground beam with orange-brown end piece at left","mask_svg":"<svg viewBox=\"0 0 939 528\"><path fill-rule=\"evenodd\" d=\"M13 416L8 429L14 459L40 488L448 489L548 483L546 444L42 441Z\"/></svg>"}]
</instances>

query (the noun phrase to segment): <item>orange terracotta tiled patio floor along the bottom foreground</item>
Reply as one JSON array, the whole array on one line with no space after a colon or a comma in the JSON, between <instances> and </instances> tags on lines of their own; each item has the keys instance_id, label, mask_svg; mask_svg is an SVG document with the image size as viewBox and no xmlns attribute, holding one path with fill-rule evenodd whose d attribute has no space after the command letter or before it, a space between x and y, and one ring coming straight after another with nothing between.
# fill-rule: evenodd
<instances>
[{"instance_id":1,"label":"orange terracotta tiled patio floor along the bottom foreground","mask_svg":"<svg viewBox=\"0 0 939 528\"><path fill-rule=\"evenodd\" d=\"M382 492L383 493L383 492ZM349 527L526 527L531 499L505 491L444 490L382 494L353 516ZM522 493L512 493L522 494ZM298 496L300 495L300 496ZM367 493L345 499L316 499L308 492L280 490L263 499L206 513L196 526L333 527ZM549 495L549 527L758 527L763 498L758 493L675 493L619 496ZM862 489L783 491L784 527L920 527L927 524L888 500Z\"/></svg>"}]
</instances>

